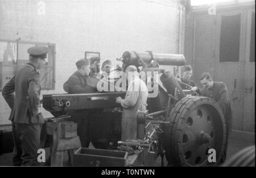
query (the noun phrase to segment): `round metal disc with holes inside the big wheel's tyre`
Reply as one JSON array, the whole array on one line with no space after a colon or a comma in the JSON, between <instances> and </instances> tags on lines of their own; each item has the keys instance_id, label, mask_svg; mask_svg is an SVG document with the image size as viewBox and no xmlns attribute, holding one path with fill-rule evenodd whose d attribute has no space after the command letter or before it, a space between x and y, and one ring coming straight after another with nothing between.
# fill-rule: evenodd
<instances>
[{"instance_id":1,"label":"round metal disc with holes inside the big wheel's tyre","mask_svg":"<svg viewBox=\"0 0 256 178\"><path fill-rule=\"evenodd\" d=\"M193 110L187 117L183 132L183 152L186 162L191 166L203 163L207 159L208 150L214 147L212 118L212 113L205 107Z\"/></svg>"}]
</instances>

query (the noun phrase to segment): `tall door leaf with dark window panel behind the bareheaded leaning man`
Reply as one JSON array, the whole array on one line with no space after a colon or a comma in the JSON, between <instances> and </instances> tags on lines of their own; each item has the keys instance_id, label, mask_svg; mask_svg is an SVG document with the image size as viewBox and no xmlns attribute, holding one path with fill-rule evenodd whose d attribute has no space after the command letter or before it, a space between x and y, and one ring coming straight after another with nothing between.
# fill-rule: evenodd
<instances>
[{"instance_id":1,"label":"tall door leaf with dark window panel behind the bareheaded leaning man","mask_svg":"<svg viewBox=\"0 0 256 178\"><path fill-rule=\"evenodd\" d=\"M216 81L228 87L233 112L233 128L243 129L242 56L244 51L243 10L220 11L216 23L216 60L214 75Z\"/></svg>"}]
</instances>

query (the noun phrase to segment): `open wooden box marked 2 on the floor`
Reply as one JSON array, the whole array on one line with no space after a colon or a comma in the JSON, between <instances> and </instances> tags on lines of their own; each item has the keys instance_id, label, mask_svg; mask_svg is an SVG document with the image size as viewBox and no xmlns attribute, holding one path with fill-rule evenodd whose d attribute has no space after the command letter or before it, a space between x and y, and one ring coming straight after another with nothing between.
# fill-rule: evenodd
<instances>
[{"instance_id":1,"label":"open wooden box marked 2 on the floor","mask_svg":"<svg viewBox=\"0 0 256 178\"><path fill-rule=\"evenodd\" d=\"M128 153L117 150L80 148L74 154L73 166L126 166Z\"/></svg>"}]
</instances>

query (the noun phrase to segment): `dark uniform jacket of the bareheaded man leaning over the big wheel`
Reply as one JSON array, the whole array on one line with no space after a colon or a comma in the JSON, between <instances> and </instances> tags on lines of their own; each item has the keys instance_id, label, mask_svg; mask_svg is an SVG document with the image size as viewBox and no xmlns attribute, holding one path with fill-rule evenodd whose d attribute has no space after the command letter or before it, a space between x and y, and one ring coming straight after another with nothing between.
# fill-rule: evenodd
<instances>
[{"instance_id":1,"label":"dark uniform jacket of the bareheaded man leaning over the big wheel","mask_svg":"<svg viewBox=\"0 0 256 178\"><path fill-rule=\"evenodd\" d=\"M232 128L232 108L229 102L228 88L223 82L213 82L213 87L210 89L200 90L201 95L212 98L221 107L224 113L227 131L230 132Z\"/></svg>"}]
</instances>

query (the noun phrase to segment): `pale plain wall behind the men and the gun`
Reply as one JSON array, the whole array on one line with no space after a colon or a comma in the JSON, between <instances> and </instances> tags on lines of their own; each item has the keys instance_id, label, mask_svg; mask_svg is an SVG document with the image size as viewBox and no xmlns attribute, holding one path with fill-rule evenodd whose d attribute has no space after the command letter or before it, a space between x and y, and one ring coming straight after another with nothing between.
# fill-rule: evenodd
<instances>
[{"instance_id":1,"label":"pale plain wall behind the men and the gun","mask_svg":"<svg viewBox=\"0 0 256 178\"><path fill-rule=\"evenodd\" d=\"M114 63L126 50L178 53L176 0L43 1L45 15L38 2L0 0L0 39L56 44L56 90L43 94L64 92L85 50ZM9 123L9 108L0 100L0 124Z\"/></svg>"}]
</instances>

